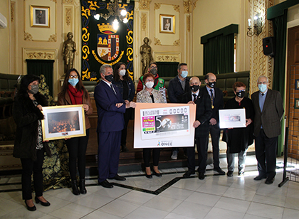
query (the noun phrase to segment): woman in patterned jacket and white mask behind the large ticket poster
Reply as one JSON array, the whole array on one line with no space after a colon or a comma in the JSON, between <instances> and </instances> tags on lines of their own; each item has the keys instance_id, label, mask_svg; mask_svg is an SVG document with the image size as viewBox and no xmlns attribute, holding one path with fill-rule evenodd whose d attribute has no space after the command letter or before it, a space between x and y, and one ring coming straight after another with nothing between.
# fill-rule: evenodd
<instances>
[{"instance_id":1,"label":"woman in patterned jacket and white mask behind the large ticket poster","mask_svg":"<svg viewBox=\"0 0 299 219\"><path fill-rule=\"evenodd\" d=\"M162 95L159 95L159 91L154 90L154 75L151 73L146 73L143 75L143 82L145 83L145 89L137 93L137 102L147 102L147 103L166 103ZM152 161L153 161L153 171L155 176L161 177L162 174L159 172L159 156L160 149L143 149L143 160L145 161L145 176L147 178L152 178L152 173L150 171L150 152L152 150Z\"/></svg>"}]
</instances>

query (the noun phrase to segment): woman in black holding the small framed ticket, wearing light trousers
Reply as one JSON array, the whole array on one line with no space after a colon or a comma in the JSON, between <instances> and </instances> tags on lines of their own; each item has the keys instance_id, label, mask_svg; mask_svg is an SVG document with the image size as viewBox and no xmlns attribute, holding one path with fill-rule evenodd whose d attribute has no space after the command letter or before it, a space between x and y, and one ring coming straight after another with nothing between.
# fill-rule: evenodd
<instances>
[{"instance_id":1,"label":"woman in black holding the small framed ticket, wearing light trousers","mask_svg":"<svg viewBox=\"0 0 299 219\"><path fill-rule=\"evenodd\" d=\"M227 144L227 176L234 176L234 156L238 153L238 176L243 176L245 171L245 159L248 146L253 144L253 118L254 110L250 99L245 97L246 85L243 82L235 82L233 90L236 97L228 100L224 109L242 109L246 111L246 128L225 129L223 141Z\"/></svg>"}]
</instances>

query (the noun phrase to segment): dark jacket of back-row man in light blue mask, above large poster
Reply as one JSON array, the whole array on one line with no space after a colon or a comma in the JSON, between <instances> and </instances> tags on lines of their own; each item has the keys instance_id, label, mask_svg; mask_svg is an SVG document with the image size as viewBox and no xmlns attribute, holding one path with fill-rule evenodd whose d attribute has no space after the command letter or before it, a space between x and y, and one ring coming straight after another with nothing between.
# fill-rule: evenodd
<instances>
[{"instance_id":1,"label":"dark jacket of back-row man in light blue mask, above large poster","mask_svg":"<svg viewBox=\"0 0 299 219\"><path fill-rule=\"evenodd\" d=\"M172 102L172 103L182 102L182 95L184 95L185 92L190 91L190 87L189 87L190 79L187 77L185 80L186 80L185 90L183 90L181 82L179 82L178 75L169 81L167 92L168 92L168 98L169 98L170 102Z\"/></svg>"}]
</instances>

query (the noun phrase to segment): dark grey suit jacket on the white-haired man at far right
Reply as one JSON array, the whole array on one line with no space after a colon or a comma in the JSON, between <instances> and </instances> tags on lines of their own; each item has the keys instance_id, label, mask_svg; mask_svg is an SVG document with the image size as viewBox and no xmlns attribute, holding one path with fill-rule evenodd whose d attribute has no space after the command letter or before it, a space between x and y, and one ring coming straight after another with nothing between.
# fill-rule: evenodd
<instances>
[{"instance_id":1,"label":"dark grey suit jacket on the white-haired man at far right","mask_svg":"<svg viewBox=\"0 0 299 219\"><path fill-rule=\"evenodd\" d=\"M268 138L278 137L280 135L280 121L283 117L283 100L280 92L276 90L269 90L266 93L265 103L263 105L263 112L258 102L259 91L251 95L253 108L255 111L254 117L254 131L253 134L258 137L263 125L263 131Z\"/></svg>"}]
</instances>

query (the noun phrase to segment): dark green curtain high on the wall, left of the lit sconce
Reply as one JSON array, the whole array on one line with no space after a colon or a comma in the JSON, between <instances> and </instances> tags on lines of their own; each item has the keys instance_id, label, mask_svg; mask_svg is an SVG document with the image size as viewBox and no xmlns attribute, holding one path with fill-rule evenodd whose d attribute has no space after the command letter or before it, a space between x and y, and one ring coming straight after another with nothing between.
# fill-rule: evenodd
<instances>
[{"instance_id":1,"label":"dark green curtain high on the wall, left of the lit sconce","mask_svg":"<svg viewBox=\"0 0 299 219\"><path fill-rule=\"evenodd\" d=\"M204 43L204 75L234 72L234 33Z\"/></svg>"}]
</instances>

